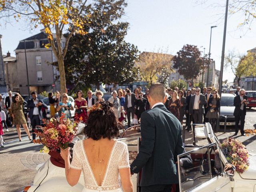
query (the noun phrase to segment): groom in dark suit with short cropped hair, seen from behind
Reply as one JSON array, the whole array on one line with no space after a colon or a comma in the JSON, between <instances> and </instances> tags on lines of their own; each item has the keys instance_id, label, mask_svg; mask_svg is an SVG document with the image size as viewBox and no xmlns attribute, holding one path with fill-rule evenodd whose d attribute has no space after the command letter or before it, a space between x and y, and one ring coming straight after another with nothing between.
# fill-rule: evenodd
<instances>
[{"instance_id":1,"label":"groom in dark suit with short cropped hair, seen from behind","mask_svg":"<svg viewBox=\"0 0 256 192\"><path fill-rule=\"evenodd\" d=\"M140 151L130 170L133 174L142 169L142 192L170 192L172 184L178 183L175 161L184 150L181 124L164 106L163 84L150 86L148 102L151 109L143 112L140 118Z\"/></svg>"}]
</instances>

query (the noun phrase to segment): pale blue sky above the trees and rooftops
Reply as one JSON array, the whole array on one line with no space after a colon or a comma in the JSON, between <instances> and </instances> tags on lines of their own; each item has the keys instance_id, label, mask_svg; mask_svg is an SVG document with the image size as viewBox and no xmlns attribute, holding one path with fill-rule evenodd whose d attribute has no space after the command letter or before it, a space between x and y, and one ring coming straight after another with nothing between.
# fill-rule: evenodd
<instances>
[{"instance_id":1,"label":"pale blue sky above the trees and rooftops","mask_svg":"<svg viewBox=\"0 0 256 192\"><path fill-rule=\"evenodd\" d=\"M200 4L201 2L205 2ZM212 29L211 58L220 69L222 40L224 30L225 0L128 0L126 14L122 21L130 23L126 41L138 46L142 51L157 51L168 48L170 54L176 54L185 44L197 45L201 51L209 52L210 26ZM213 4L215 3L215 4ZM237 29L242 15L228 17L226 50L236 50L246 54L247 50L256 47L255 24L252 30L245 33ZM14 55L19 40L32 36L40 29L30 30L23 22L8 24L0 28L3 54L8 50ZM234 75L225 69L223 80L232 81Z\"/></svg>"}]
</instances>

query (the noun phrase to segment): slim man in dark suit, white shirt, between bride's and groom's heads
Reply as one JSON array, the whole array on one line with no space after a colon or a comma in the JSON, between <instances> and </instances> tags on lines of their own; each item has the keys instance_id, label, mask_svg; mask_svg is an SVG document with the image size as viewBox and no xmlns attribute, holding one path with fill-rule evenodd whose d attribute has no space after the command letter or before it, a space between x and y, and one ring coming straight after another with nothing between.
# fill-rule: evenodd
<instances>
[{"instance_id":1,"label":"slim man in dark suit, white shirt, between bride's and groom's heads","mask_svg":"<svg viewBox=\"0 0 256 192\"><path fill-rule=\"evenodd\" d=\"M132 114L132 118L134 117L134 112L135 112L135 94L131 93L130 90L126 91L126 95L125 95L125 112L126 112L126 116L128 119L128 127L131 126L131 114Z\"/></svg>"}]
</instances>

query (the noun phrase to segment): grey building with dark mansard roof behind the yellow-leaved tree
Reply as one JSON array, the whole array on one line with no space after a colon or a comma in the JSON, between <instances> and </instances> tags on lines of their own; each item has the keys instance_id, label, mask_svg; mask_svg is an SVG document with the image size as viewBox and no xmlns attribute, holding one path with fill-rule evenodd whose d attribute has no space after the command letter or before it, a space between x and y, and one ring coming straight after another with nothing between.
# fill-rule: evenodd
<instances>
[{"instance_id":1,"label":"grey building with dark mansard roof behind the yellow-leaved tree","mask_svg":"<svg viewBox=\"0 0 256 192\"><path fill-rule=\"evenodd\" d=\"M26 43L26 44L25 44ZM56 80L59 75L56 67L50 63L56 62L52 48L45 48L48 44L44 30L39 34L21 40L16 48L18 82L21 94L28 94L28 81L30 94L60 90L60 82ZM62 42L64 46L64 42ZM26 54L25 54L26 48ZM28 68L28 79L27 70Z\"/></svg>"}]
</instances>

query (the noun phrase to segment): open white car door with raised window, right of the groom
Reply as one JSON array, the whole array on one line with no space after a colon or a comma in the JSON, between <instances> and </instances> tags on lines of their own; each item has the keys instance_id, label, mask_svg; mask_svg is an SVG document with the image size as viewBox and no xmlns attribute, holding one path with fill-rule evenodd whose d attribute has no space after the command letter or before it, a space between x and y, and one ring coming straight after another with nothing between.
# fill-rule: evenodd
<instances>
[{"instance_id":1,"label":"open white car door with raised window, right of the groom","mask_svg":"<svg viewBox=\"0 0 256 192\"><path fill-rule=\"evenodd\" d=\"M192 159L186 167L181 166L185 158ZM230 179L220 176L223 164L216 143L195 148L178 155L178 177L180 192L231 192Z\"/></svg>"}]
</instances>

